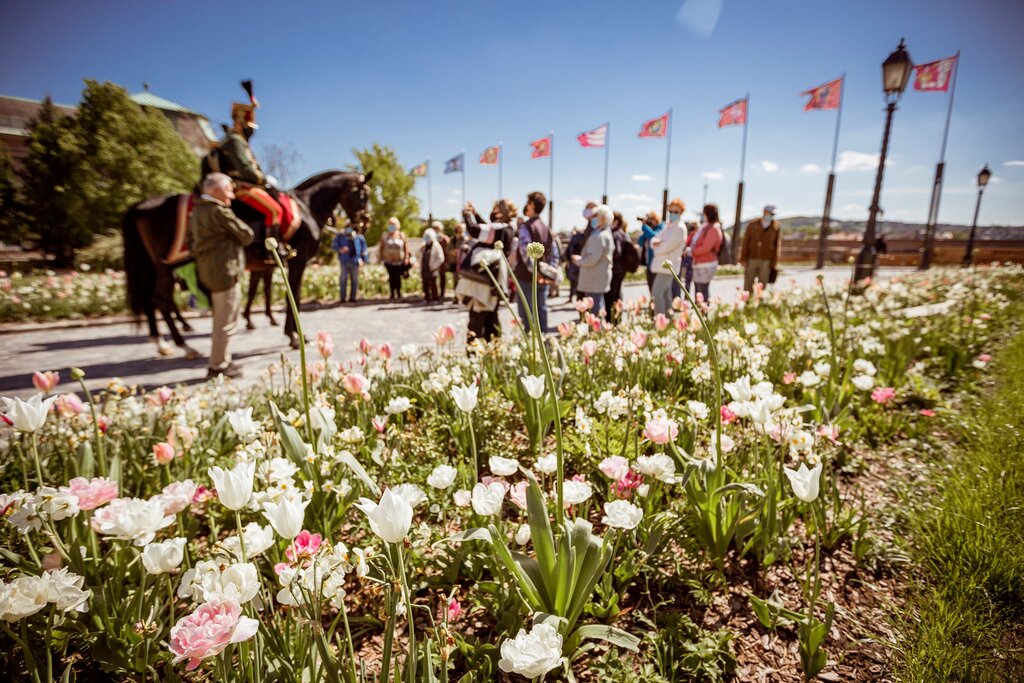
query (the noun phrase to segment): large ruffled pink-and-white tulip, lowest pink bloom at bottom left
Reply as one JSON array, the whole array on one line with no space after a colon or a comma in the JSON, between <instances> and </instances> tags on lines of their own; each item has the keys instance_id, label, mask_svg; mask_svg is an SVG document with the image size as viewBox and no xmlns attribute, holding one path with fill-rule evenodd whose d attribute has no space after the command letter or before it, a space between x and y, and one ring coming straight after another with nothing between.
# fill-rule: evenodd
<instances>
[{"instance_id":1,"label":"large ruffled pink-and-white tulip, lowest pink bloom at bottom left","mask_svg":"<svg viewBox=\"0 0 1024 683\"><path fill-rule=\"evenodd\" d=\"M203 659L220 654L231 643L249 640L258 628L259 622L243 616L242 606L233 600L202 604L171 628L174 664L188 659L185 671L194 671Z\"/></svg>"}]
</instances>

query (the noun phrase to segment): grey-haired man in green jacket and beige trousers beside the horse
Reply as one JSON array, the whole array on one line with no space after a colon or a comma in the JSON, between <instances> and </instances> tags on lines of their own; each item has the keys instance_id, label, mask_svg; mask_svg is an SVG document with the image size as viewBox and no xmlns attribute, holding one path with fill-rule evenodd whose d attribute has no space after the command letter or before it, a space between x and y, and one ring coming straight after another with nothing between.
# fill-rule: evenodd
<instances>
[{"instance_id":1,"label":"grey-haired man in green jacket and beige trousers beside the horse","mask_svg":"<svg viewBox=\"0 0 1024 683\"><path fill-rule=\"evenodd\" d=\"M203 179L203 195L188 218L188 236L200 283L210 290L213 305L213 337L210 342L210 369L207 379L224 375L241 377L242 370L231 362L227 348L234 335L242 304L239 275L246 267L243 247L255 236L231 211L234 190L231 179L223 173L211 173Z\"/></svg>"}]
</instances>

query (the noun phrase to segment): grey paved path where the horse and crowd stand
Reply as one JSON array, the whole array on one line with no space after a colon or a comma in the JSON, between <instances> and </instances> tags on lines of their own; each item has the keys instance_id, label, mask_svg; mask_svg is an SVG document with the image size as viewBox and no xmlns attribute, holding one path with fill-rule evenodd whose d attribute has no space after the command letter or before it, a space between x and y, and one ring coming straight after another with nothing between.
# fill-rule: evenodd
<instances>
[{"instance_id":1,"label":"grey paved path where the horse and crowd stand","mask_svg":"<svg viewBox=\"0 0 1024 683\"><path fill-rule=\"evenodd\" d=\"M905 269L888 268L880 275L887 276ZM850 268L826 268L827 282L846 282ZM813 284L818 271L808 268L788 269L780 275L776 287L790 288L795 284L806 287ZM717 279L712 284L712 294L728 300L738 296L741 281L738 278ZM563 288L566 292L567 288ZM627 300L646 295L643 284L630 284L624 288ZM575 309L564 296L556 299L548 324L553 328L564 321L575 318ZM507 314L505 315L507 317ZM284 315L280 318L284 321ZM210 349L210 317L191 318L196 332L185 335L189 345L206 354ZM267 366L278 362L283 352L298 362L298 351L288 348L282 328L271 328L262 315L253 315L257 329L240 330L231 341L236 360L243 367L245 382L254 381ZM422 301L375 301L356 305L311 307L302 312L302 324L310 338L318 330L329 331L335 341L336 355L354 354L359 339L374 343L391 342L396 348L406 343L432 344L431 333L438 327L454 324L464 338L466 313L452 303L427 306ZM9 330L9 328L8 328ZM172 346L172 348L174 348ZM77 383L71 382L69 368L83 369L90 388L105 386L106 381L119 377L125 383L157 387L164 384L195 383L206 375L206 359L186 360L176 348L171 356L160 356L155 345L146 341L144 329L134 329L131 324L92 325L89 327L61 328L0 334L0 395L26 397L35 393L32 372L58 370L62 384L59 391L74 391ZM309 350L315 353L314 347Z\"/></svg>"}]
</instances>

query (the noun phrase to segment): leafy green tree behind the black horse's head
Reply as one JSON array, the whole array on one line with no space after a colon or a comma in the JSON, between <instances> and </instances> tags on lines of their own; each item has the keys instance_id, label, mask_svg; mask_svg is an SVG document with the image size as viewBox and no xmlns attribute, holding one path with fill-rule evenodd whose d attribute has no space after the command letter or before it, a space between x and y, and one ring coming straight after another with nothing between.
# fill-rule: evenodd
<instances>
[{"instance_id":1,"label":"leafy green tree behind the black horse's head","mask_svg":"<svg viewBox=\"0 0 1024 683\"><path fill-rule=\"evenodd\" d=\"M389 146L377 142L367 150L352 150L358 160L358 167L351 170L362 173L374 172L370 180L370 226L367 242L374 245L387 227L388 218L394 216L401 223L407 234L419 234L423 230L420 223L420 202L413 195L416 178L398 163L398 156Z\"/></svg>"}]
</instances>

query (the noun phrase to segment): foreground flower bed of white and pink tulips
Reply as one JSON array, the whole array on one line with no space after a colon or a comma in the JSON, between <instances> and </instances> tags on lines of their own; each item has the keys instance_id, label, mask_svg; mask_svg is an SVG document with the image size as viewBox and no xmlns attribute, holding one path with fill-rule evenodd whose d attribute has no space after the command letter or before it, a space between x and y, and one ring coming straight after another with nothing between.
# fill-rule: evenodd
<instances>
[{"instance_id":1,"label":"foreground flower bed of white and pink tulips","mask_svg":"<svg viewBox=\"0 0 1024 683\"><path fill-rule=\"evenodd\" d=\"M0 446L0 658L88 680L878 680L862 641L895 569L872 454L985 372L1024 286L965 273L634 306L469 355L442 328L340 366L321 334L304 373L244 391L83 401L40 374Z\"/></svg>"}]
</instances>

